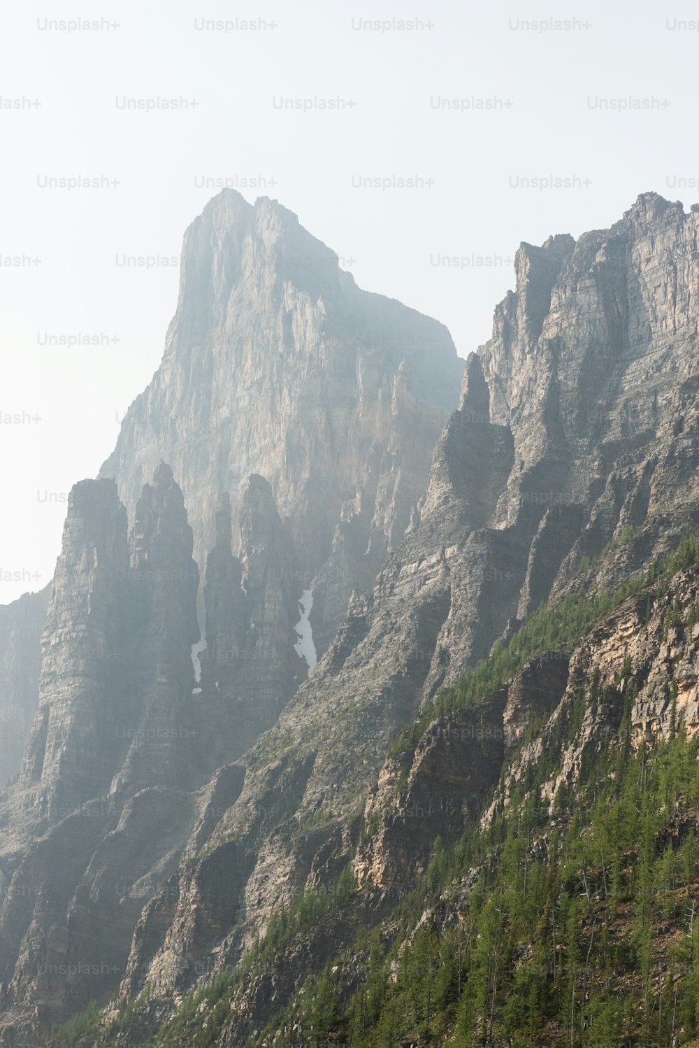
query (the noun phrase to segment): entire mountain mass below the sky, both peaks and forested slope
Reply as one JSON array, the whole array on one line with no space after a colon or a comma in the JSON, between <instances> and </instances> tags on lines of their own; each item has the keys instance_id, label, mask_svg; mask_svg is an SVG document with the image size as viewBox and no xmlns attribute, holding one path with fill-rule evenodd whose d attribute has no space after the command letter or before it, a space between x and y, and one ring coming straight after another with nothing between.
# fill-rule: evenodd
<instances>
[{"instance_id":1,"label":"entire mountain mass below the sky, both peaks and forested slope","mask_svg":"<svg viewBox=\"0 0 699 1048\"><path fill-rule=\"evenodd\" d=\"M522 244L421 473L429 354L384 340L389 409L341 372L404 307L330 263L290 289L293 217L209 205L162 368L71 496L0 802L10 1042L81 1008L49 1043L699 1033L698 231L642 194Z\"/></svg>"}]
</instances>

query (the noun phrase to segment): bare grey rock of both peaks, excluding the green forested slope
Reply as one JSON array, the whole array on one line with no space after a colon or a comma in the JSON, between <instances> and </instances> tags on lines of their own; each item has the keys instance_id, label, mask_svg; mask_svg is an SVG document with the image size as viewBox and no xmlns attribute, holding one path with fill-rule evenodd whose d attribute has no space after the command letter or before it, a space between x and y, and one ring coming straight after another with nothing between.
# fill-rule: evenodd
<instances>
[{"instance_id":1,"label":"bare grey rock of both peaks, excluding the green forested slope","mask_svg":"<svg viewBox=\"0 0 699 1048\"><path fill-rule=\"evenodd\" d=\"M522 244L463 373L441 325L346 280L275 201L207 205L114 479L71 496L39 713L0 813L8 1012L33 1028L45 1008L48 1027L123 976L123 999L148 985L139 1016L160 1020L356 856L351 946L424 883L435 832L475 826L508 762L517 777L518 754L547 759L538 725L555 733L568 706L582 728L556 774L572 782L596 727L619 723L622 677L650 689L630 738L680 709L696 727L693 575L637 593L584 643L548 638L556 609L582 621L573 598L637 581L699 520L698 222L644 194L610 230ZM527 633L539 608L550 617ZM504 648L533 636L512 674L479 667L494 650L511 665ZM578 708L595 664L604 691ZM474 680L495 681L477 706ZM99 817L75 829L85 808ZM322 943L294 940L293 978L240 984L221 1043L257 1036L339 923L333 907ZM58 959L99 943L116 971L49 994L49 925Z\"/></svg>"}]
</instances>

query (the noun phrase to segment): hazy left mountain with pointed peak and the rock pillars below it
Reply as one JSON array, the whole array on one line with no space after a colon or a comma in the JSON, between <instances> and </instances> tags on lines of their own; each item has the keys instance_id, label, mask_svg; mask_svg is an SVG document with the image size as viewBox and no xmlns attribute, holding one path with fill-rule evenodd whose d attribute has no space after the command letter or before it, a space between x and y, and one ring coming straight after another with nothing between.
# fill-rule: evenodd
<instances>
[{"instance_id":1,"label":"hazy left mountain with pointed peak and the rock pillars below it","mask_svg":"<svg viewBox=\"0 0 699 1048\"><path fill-rule=\"evenodd\" d=\"M2 618L10 1041L118 987L144 903L400 542L463 370L276 201L224 191L189 227L162 364L71 492L50 596Z\"/></svg>"}]
</instances>

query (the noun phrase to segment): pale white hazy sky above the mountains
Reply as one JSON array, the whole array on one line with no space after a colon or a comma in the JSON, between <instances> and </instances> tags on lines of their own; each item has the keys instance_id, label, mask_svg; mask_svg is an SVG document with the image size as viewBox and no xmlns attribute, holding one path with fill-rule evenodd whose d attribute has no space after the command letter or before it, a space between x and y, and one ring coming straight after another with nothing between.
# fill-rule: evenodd
<instances>
[{"instance_id":1,"label":"pale white hazy sky above the mountains","mask_svg":"<svg viewBox=\"0 0 699 1048\"><path fill-rule=\"evenodd\" d=\"M607 226L648 190L687 210L699 199L699 32L682 25L697 16L686 3L455 0L6 9L0 603L50 580L67 493L94 476L158 366L177 266L118 263L177 257L216 192L203 179L238 179L251 201L276 197L361 286L442 320L466 356L490 335L521 240ZM76 18L105 27L50 27ZM393 27L400 19L420 24ZM568 26L525 27L550 19ZM201 20L232 25L209 30ZM387 24L363 28L366 20ZM197 105L123 108L158 96ZM277 108L314 97L346 108ZM477 108L493 100L496 108ZM106 184L47 185L78 176ZM521 184L551 176L572 185ZM357 187L411 177L416 187ZM244 188L253 178L262 189ZM451 256L463 265L442 264ZM17 257L23 264L8 264ZM78 333L100 344L48 342Z\"/></svg>"}]
</instances>

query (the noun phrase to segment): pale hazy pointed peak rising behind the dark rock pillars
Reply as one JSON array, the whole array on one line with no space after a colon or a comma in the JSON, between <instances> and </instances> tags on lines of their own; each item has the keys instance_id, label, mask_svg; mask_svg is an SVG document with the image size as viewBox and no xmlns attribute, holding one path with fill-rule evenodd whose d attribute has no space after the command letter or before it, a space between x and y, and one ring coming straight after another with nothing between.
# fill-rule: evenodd
<instances>
[{"instance_id":1,"label":"pale hazy pointed peak rising behind the dark rock pillars","mask_svg":"<svg viewBox=\"0 0 699 1048\"><path fill-rule=\"evenodd\" d=\"M262 475L324 650L408 524L461 374L443 325L360 290L276 201L224 191L186 232L162 364L102 474L132 512L168 462L202 570L220 493L236 521Z\"/></svg>"}]
</instances>

